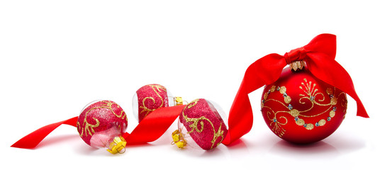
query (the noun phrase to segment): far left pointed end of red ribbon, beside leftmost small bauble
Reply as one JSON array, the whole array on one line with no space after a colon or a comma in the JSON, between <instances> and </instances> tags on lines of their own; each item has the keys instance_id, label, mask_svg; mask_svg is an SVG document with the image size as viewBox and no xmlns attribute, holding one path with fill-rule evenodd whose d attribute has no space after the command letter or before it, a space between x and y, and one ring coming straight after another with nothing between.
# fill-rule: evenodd
<instances>
[{"instance_id":1,"label":"far left pointed end of red ribbon, beside leftmost small bauble","mask_svg":"<svg viewBox=\"0 0 385 170\"><path fill-rule=\"evenodd\" d=\"M50 132L52 132L62 124L72 125L74 127L77 127L77 117L70 118L68 120L64 120L58 123L52 123L50 125L46 125L43 128L35 130L34 132L31 132L30 134L21 138L20 140L18 140L18 142L14 143L11 147L32 149L38 146L38 144L42 140L44 140L44 138L47 137L47 135L50 134Z\"/></svg>"}]
</instances>

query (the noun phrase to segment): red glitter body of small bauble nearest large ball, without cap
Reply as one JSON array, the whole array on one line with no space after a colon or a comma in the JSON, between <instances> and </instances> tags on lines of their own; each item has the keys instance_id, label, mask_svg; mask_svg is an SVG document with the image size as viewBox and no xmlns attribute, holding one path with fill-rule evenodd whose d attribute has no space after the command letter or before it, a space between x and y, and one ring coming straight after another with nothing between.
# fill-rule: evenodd
<instances>
[{"instance_id":1,"label":"red glitter body of small bauble nearest large ball, without cap","mask_svg":"<svg viewBox=\"0 0 385 170\"><path fill-rule=\"evenodd\" d=\"M202 149L217 147L228 132L216 108L203 98L189 103L179 119L187 133Z\"/></svg>"}]
</instances>

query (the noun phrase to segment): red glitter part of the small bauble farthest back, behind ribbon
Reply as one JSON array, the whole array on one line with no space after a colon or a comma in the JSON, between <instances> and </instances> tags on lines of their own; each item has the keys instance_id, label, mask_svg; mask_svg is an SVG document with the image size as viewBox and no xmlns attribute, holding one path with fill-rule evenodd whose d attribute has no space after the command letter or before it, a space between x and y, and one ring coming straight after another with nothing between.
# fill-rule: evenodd
<instances>
[{"instance_id":1,"label":"red glitter part of the small bauble farthest back, behind ribbon","mask_svg":"<svg viewBox=\"0 0 385 170\"><path fill-rule=\"evenodd\" d=\"M136 91L139 122L157 108L168 107L167 89L160 84L148 84ZM134 108L135 109L135 108Z\"/></svg>"}]
</instances>

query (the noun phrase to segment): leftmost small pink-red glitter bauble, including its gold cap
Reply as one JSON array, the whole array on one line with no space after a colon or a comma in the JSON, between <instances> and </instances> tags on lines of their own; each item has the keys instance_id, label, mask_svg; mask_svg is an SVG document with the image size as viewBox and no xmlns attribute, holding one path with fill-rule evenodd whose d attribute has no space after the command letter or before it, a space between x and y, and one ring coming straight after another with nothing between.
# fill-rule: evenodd
<instances>
[{"instance_id":1,"label":"leftmost small pink-red glitter bauble, including its gold cap","mask_svg":"<svg viewBox=\"0 0 385 170\"><path fill-rule=\"evenodd\" d=\"M77 131L91 147L108 148L115 154L125 147L123 133L127 128L127 116L113 101L95 101L87 105L77 120Z\"/></svg>"}]
</instances>

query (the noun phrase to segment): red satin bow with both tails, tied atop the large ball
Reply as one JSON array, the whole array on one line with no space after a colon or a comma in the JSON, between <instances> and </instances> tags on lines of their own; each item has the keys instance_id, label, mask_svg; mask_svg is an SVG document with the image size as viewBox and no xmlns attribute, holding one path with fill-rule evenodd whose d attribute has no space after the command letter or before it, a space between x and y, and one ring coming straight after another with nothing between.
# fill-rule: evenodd
<instances>
[{"instance_id":1,"label":"red satin bow with both tails, tied atop the large ball","mask_svg":"<svg viewBox=\"0 0 385 170\"><path fill-rule=\"evenodd\" d=\"M264 85L277 81L282 69L294 61L305 61L306 67L315 77L349 94L357 102L357 115L369 118L355 92L352 78L335 61L335 39L335 35L321 34L313 38L308 45L286 52L284 56L270 54L252 63L245 72L233 106L230 108L229 132L223 140L223 144L230 145L252 128L252 108L247 95Z\"/></svg>"}]
</instances>

